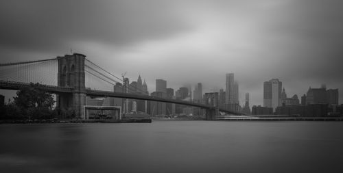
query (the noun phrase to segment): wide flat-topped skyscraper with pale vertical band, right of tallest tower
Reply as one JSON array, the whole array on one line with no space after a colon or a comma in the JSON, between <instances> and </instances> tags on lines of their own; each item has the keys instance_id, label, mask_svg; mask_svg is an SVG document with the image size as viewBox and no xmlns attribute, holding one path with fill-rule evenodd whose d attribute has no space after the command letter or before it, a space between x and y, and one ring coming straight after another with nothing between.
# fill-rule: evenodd
<instances>
[{"instance_id":1,"label":"wide flat-topped skyscraper with pale vertical band, right of tallest tower","mask_svg":"<svg viewBox=\"0 0 343 173\"><path fill-rule=\"evenodd\" d=\"M281 106L282 82L279 79L271 79L263 83L263 106L276 107Z\"/></svg>"}]
</instances>

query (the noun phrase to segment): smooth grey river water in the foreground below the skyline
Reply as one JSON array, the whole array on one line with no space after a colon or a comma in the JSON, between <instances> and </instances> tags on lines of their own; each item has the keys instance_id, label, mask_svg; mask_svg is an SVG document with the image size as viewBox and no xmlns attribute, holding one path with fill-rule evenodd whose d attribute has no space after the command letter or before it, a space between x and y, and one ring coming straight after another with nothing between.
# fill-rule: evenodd
<instances>
[{"instance_id":1,"label":"smooth grey river water in the foreground below the skyline","mask_svg":"<svg viewBox=\"0 0 343 173\"><path fill-rule=\"evenodd\" d=\"M342 122L0 124L0 172L343 172Z\"/></svg>"}]
</instances>

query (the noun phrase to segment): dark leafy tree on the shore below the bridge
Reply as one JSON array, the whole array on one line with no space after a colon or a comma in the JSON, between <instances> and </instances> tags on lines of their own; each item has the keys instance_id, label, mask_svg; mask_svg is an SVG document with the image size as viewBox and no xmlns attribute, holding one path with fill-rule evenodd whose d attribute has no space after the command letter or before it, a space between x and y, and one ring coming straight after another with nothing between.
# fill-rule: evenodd
<instances>
[{"instance_id":1,"label":"dark leafy tree on the shore below the bridge","mask_svg":"<svg viewBox=\"0 0 343 173\"><path fill-rule=\"evenodd\" d=\"M52 94L40 89L39 83L30 83L16 92L14 104L28 118L51 118L54 98Z\"/></svg>"}]
</instances>

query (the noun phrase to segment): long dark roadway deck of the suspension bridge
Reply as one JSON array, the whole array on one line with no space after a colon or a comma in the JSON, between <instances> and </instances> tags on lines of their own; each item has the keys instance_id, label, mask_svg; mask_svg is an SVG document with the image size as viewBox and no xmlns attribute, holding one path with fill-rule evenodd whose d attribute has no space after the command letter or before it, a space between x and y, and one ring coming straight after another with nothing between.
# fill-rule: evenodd
<instances>
[{"instance_id":1,"label":"long dark roadway deck of the suspension bridge","mask_svg":"<svg viewBox=\"0 0 343 173\"><path fill-rule=\"evenodd\" d=\"M0 80L0 89L4 89L4 90L20 90L21 88L29 86L29 85L30 85L29 83ZM72 87L60 87L60 86L55 86L55 85L40 85L40 89L45 90L47 92L53 92L56 94L73 93L73 90L74 90L74 88ZM158 101L158 102L164 102L164 103L175 103L179 105L200 107L202 109L215 109L215 107L211 107L209 105L204 105L200 103L178 101L174 99L160 98L156 96L149 96L149 95L143 95L143 94L108 92L108 91L86 89L86 95L91 96L91 97L116 97L116 98L129 98L129 99L144 100L144 101ZM226 109L219 109L219 111L226 112L228 114L241 115L241 113L239 112L228 111Z\"/></svg>"}]
</instances>

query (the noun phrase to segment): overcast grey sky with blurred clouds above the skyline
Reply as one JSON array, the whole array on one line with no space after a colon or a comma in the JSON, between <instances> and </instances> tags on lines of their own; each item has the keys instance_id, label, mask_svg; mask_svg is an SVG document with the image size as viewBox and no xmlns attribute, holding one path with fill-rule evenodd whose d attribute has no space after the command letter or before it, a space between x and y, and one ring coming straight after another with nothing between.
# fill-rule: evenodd
<instances>
[{"instance_id":1,"label":"overcast grey sky with blurred clouds above the skyline","mask_svg":"<svg viewBox=\"0 0 343 173\"><path fill-rule=\"evenodd\" d=\"M1 62L73 52L117 76L167 87L225 88L235 73L240 102L263 105L263 81L287 96L339 88L343 103L343 1L1 1Z\"/></svg>"}]
</instances>

